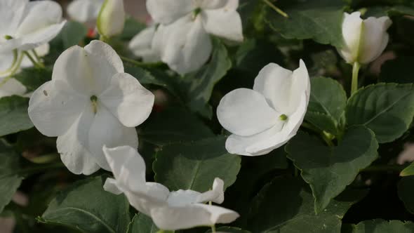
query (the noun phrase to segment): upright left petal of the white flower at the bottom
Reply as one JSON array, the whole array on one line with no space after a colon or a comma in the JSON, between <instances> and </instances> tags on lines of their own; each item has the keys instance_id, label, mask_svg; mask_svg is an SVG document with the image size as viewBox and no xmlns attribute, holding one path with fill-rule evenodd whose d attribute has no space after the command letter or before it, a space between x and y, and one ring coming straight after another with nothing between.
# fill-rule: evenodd
<instances>
[{"instance_id":1,"label":"upright left petal of the white flower at the bottom","mask_svg":"<svg viewBox=\"0 0 414 233\"><path fill-rule=\"evenodd\" d=\"M128 189L145 185L145 161L130 146L102 148L115 179Z\"/></svg>"}]
</instances>

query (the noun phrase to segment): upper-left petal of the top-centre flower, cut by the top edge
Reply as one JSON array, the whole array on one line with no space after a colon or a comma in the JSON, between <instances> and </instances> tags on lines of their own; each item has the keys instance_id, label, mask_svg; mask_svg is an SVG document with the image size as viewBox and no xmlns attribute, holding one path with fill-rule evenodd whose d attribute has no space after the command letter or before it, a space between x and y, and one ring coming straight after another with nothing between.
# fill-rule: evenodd
<instances>
[{"instance_id":1,"label":"upper-left petal of the top-centre flower, cut by the top edge","mask_svg":"<svg viewBox=\"0 0 414 233\"><path fill-rule=\"evenodd\" d=\"M155 22L169 24L196 8L193 0L147 0L147 11Z\"/></svg>"}]
</instances>

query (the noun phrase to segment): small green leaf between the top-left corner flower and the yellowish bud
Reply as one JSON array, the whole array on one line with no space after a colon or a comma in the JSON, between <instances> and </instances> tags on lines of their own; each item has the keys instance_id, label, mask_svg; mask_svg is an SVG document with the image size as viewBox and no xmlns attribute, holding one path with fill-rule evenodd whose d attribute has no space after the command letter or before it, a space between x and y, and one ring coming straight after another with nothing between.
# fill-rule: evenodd
<instances>
[{"instance_id":1,"label":"small green leaf between the top-left corner flower and the yellowish bud","mask_svg":"<svg viewBox=\"0 0 414 233\"><path fill-rule=\"evenodd\" d=\"M86 37L87 33L88 29L84 24L76 21L66 22L65 27L60 31L63 48L66 49L79 44L79 42Z\"/></svg>"}]
</instances>

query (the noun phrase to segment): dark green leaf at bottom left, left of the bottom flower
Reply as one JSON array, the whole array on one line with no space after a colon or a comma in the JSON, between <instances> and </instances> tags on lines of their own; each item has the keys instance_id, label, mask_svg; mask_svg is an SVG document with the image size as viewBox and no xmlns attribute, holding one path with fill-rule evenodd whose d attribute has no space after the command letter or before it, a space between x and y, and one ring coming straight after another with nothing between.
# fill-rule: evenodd
<instances>
[{"instance_id":1,"label":"dark green leaf at bottom left, left of the bottom flower","mask_svg":"<svg viewBox=\"0 0 414 233\"><path fill-rule=\"evenodd\" d=\"M129 203L125 196L103 189L107 176L75 182L51 201L40 222L65 225L81 232L126 232Z\"/></svg>"}]
</instances>

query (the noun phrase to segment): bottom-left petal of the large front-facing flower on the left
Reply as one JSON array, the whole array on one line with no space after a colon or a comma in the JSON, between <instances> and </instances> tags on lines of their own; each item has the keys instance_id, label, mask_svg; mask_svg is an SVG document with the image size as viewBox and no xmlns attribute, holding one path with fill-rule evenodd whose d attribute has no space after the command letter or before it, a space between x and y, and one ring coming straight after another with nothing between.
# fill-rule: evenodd
<instances>
[{"instance_id":1,"label":"bottom-left petal of the large front-facing flower on the left","mask_svg":"<svg viewBox=\"0 0 414 233\"><path fill-rule=\"evenodd\" d=\"M93 112L86 106L84 112L69 130L58 137L56 146L63 164L74 174L91 175L99 170L95 157L86 149Z\"/></svg>"}]
</instances>

